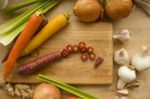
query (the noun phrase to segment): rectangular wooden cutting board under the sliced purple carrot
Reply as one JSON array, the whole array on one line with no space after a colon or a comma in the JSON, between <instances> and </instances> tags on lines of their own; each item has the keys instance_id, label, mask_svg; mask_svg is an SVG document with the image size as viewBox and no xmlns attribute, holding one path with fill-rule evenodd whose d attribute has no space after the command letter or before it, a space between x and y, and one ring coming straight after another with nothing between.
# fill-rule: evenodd
<instances>
[{"instance_id":1,"label":"rectangular wooden cutting board under the sliced purple carrot","mask_svg":"<svg viewBox=\"0 0 150 99\"><path fill-rule=\"evenodd\" d=\"M66 10L72 10L75 1L64 0L46 15L47 18L63 13ZM49 64L31 75L18 75L18 64L28 62L56 50L62 50L67 44L78 44L80 41L85 41L88 46L92 46L95 49L97 56L104 58L104 62L100 67L95 69L94 61L82 62L80 54L72 54L67 59ZM112 56L112 24L108 22L82 23L72 15L68 26L53 35L31 55L18 60L8 81L13 83L38 83L36 76L41 73L69 84L110 84L112 83L113 71ZM3 66L0 66L1 71L2 68Z\"/></svg>"}]
</instances>

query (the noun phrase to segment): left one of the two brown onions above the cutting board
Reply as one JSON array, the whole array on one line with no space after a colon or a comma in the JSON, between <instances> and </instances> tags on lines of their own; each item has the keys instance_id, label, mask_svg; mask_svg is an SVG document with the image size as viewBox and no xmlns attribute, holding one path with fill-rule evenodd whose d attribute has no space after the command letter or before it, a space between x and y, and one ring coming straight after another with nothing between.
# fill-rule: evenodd
<instances>
[{"instance_id":1,"label":"left one of the two brown onions above the cutting board","mask_svg":"<svg viewBox=\"0 0 150 99\"><path fill-rule=\"evenodd\" d=\"M74 14L83 22L94 22L102 18L103 7L98 0L77 0Z\"/></svg>"}]
</instances>

